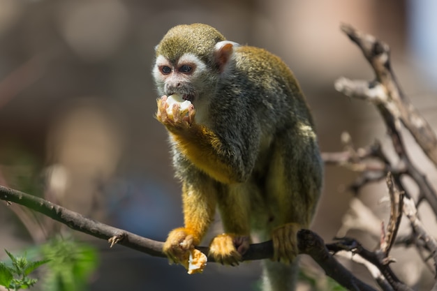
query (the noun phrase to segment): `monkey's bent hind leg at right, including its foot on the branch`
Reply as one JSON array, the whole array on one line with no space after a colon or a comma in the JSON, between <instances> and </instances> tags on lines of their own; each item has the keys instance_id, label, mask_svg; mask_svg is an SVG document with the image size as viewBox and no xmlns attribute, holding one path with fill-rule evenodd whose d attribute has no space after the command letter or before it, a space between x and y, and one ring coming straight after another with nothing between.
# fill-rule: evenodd
<instances>
[{"instance_id":1,"label":"monkey's bent hind leg at right, including its foot on the branch","mask_svg":"<svg viewBox=\"0 0 437 291\"><path fill-rule=\"evenodd\" d=\"M299 152L284 149L281 144L296 144ZM274 257L290 263L297 256L297 231L309 227L320 195L322 166L316 143L295 133L276 141L267 177L269 204L274 209L271 225Z\"/></svg>"}]
</instances>

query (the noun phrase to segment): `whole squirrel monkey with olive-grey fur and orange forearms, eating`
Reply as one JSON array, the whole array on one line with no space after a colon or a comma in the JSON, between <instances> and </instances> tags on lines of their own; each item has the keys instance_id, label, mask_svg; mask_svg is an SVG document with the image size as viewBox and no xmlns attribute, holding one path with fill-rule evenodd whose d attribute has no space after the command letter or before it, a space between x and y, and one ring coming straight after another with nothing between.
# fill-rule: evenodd
<instances>
[{"instance_id":1,"label":"whole squirrel monkey with olive-grey fur and orange forearms, eating","mask_svg":"<svg viewBox=\"0 0 437 291\"><path fill-rule=\"evenodd\" d=\"M153 76L182 181L184 227L163 251L182 262L220 211L225 233L209 256L236 265L251 232L272 239L264 290L290 290L297 230L309 227L323 183L313 119L291 70L257 47L238 45L206 24L179 25L156 46ZM170 103L170 96L188 100Z\"/></svg>"}]
</instances>

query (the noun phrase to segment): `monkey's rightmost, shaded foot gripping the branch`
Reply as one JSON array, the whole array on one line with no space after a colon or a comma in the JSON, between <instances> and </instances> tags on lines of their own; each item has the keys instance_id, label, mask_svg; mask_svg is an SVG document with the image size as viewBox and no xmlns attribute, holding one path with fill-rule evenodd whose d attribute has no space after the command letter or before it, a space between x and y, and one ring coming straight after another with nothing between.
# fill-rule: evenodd
<instances>
[{"instance_id":1,"label":"monkey's rightmost, shaded foot gripping the branch","mask_svg":"<svg viewBox=\"0 0 437 291\"><path fill-rule=\"evenodd\" d=\"M298 223L287 223L276 227L272 232L273 258L277 262L289 264L297 256L297 231L302 228Z\"/></svg>"}]
</instances>

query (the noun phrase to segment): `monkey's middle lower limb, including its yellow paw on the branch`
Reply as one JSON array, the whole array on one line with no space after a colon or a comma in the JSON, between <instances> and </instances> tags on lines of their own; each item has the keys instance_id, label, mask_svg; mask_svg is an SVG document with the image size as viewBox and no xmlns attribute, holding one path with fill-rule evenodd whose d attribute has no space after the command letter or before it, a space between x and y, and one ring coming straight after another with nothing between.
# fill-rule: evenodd
<instances>
[{"instance_id":1,"label":"monkey's middle lower limb, including its yellow paw on the branch","mask_svg":"<svg viewBox=\"0 0 437 291\"><path fill-rule=\"evenodd\" d=\"M244 184L224 186L218 193L218 209L225 229L224 234L214 237L209 255L222 264L239 264L251 243L249 211L251 202Z\"/></svg>"}]
</instances>

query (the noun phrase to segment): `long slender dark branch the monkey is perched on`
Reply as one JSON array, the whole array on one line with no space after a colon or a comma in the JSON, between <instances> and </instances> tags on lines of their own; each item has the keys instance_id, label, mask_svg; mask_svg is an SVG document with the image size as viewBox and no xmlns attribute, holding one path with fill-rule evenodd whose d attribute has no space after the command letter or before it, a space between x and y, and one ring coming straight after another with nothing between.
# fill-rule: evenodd
<instances>
[{"instance_id":1,"label":"long slender dark branch the monkey is perched on","mask_svg":"<svg viewBox=\"0 0 437 291\"><path fill-rule=\"evenodd\" d=\"M163 242L154 241L145 237L140 237L137 234L121 230L117 227L105 225L90 218L86 218L75 211L71 211L57 204L53 204L40 197L29 195L21 191L14 190L5 186L0 186L0 200L6 202L15 202L24 207L28 207L34 211L38 211L45 216L48 216L55 221L64 223L73 230L90 234L98 239L106 239L111 246L121 244L128 248L133 248L136 251L147 253L155 257L165 258L162 252ZM349 290L372 290L369 285L366 285L359 279L355 278L346 268L337 262L332 255L327 251L323 239L310 230L300 230L297 233L299 253L310 255L320 266L325 270L326 274L332 277ZM199 246L198 249L202 253L207 254L209 248ZM273 244L272 241L265 241L260 244L251 244L249 250L244 254L243 260L262 260L272 258ZM214 262L212 258L208 258L209 262Z\"/></svg>"}]
</instances>

